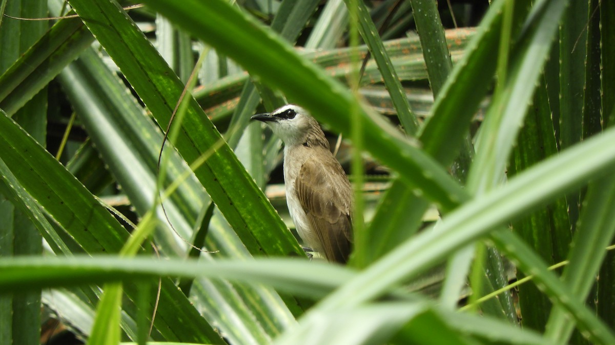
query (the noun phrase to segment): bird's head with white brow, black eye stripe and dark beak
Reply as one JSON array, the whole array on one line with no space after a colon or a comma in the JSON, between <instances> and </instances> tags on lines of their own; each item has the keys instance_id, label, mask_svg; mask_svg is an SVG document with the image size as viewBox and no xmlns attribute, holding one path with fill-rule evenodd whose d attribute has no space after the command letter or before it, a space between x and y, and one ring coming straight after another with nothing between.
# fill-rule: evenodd
<instances>
[{"instance_id":1,"label":"bird's head with white brow, black eye stripe and dark beak","mask_svg":"<svg viewBox=\"0 0 615 345\"><path fill-rule=\"evenodd\" d=\"M295 104L287 104L271 114L256 114L251 119L269 125L287 146L302 144L308 136L318 133L324 138L318 122L309 115L308 110Z\"/></svg>"}]
</instances>

